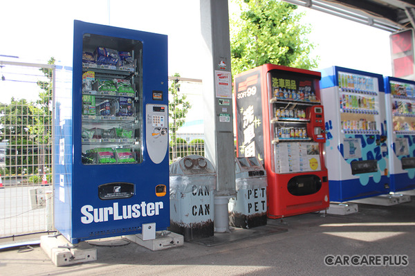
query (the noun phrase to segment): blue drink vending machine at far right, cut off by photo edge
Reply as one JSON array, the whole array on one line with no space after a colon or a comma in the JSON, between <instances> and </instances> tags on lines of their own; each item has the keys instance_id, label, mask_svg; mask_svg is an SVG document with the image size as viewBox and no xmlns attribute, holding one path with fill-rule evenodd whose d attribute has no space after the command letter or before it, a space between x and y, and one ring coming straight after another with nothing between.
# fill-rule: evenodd
<instances>
[{"instance_id":1,"label":"blue drink vending machine at far right, cut off by photo edge","mask_svg":"<svg viewBox=\"0 0 415 276\"><path fill-rule=\"evenodd\" d=\"M385 77L391 192L415 189L415 82Z\"/></svg>"}]
</instances>

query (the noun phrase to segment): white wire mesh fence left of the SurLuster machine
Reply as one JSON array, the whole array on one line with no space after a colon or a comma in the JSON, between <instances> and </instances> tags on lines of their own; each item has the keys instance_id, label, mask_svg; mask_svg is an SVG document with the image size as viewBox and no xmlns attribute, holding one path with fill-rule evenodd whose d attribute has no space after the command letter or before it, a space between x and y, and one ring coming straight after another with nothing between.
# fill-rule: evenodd
<instances>
[{"instance_id":1,"label":"white wire mesh fence left of the SurLuster machine","mask_svg":"<svg viewBox=\"0 0 415 276\"><path fill-rule=\"evenodd\" d=\"M55 66L0 61L0 237L50 230Z\"/></svg>"}]
</instances>

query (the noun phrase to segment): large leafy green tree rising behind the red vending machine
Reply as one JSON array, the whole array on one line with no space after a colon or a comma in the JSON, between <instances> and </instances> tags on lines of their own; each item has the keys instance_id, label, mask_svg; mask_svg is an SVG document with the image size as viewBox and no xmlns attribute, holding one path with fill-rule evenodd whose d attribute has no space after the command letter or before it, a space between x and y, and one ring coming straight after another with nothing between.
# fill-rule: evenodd
<instances>
[{"instance_id":1,"label":"large leafy green tree rising behind the red vending machine","mask_svg":"<svg viewBox=\"0 0 415 276\"><path fill-rule=\"evenodd\" d=\"M263 64L296 68L317 67L308 57L314 48L306 35L309 26L299 24L297 6L277 0L232 0L239 3L239 18L231 19L232 75Z\"/></svg>"}]
</instances>

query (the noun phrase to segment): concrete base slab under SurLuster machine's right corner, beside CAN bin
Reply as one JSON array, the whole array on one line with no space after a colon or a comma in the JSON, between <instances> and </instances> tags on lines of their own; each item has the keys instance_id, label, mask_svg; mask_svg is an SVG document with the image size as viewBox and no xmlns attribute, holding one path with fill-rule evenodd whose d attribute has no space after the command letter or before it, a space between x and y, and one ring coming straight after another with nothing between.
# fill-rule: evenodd
<instances>
[{"instance_id":1,"label":"concrete base slab under SurLuster machine's right corner, beside CAN bin","mask_svg":"<svg viewBox=\"0 0 415 276\"><path fill-rule=\"evenodd\" d=\"M156 239L143 240L142 234L129 234L123 237L153 251L184 245L184 237L181 234L169 231L156 232Z\"/></svg>"}]
</instances>

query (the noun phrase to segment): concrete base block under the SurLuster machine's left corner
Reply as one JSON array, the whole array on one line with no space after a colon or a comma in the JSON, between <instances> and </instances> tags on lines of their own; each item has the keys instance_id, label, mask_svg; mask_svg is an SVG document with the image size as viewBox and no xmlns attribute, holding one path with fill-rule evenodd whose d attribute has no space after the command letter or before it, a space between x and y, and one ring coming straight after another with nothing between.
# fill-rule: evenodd
<instances>
[{"instance_id":1,"label":"concrete base block under the SurLuster machine's left corner","mask_svg":"<svg viewBox=\"0 0 415 276\"><path fill-rule=\"evenodd\" d=\"M97 260L97 250L82 241L73 246L62 235L40 237L40 246L55 266L69 266Z\"/></svg>"}]
</instances>

